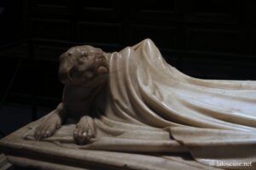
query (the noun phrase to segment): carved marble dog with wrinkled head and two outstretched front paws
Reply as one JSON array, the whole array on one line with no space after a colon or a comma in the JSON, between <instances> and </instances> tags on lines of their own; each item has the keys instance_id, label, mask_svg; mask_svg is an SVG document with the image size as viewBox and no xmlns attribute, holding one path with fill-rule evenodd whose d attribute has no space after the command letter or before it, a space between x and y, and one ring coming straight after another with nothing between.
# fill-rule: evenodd
<instances>
[{"instance_id":1,"label":"carved marble dog with wrinkled head and two outstretched front paws","mask_svg":"<svg viewBox=\"0 0 256 170\"><path fill-rule=\"evenodd\" d=\"M108 55L91 46L70 48L61 54L59 77L65 84L62 102L36 127L34 136L38 140L50 137L70 116L79 118L73 138L78 144L86 144L96 135L90 107L106 87Z\"/></svg>"}]
</instances>

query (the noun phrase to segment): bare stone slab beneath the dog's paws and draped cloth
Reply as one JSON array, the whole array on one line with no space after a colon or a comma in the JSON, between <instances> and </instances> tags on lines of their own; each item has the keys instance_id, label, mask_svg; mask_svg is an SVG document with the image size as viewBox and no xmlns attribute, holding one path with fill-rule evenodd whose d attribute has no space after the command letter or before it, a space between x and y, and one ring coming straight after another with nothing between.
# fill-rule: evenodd
<instances>
[{"instance_id":1,"label":"bare stone slab beneath the dog's paws and draped cloth","mask_svg":"<svg viewBox=\"0 0 256 170\"><path fill-rule=\"evenodd\" d=\"M49 142L23 139L30 127L36 123L32 122L21 127L15 133L0 140L0 153L3 153L8 160L0 158L3 160L0 164L3 162L5 169L8 169L7 167L11 164L24 169L41 170L170 170L170 167L172 170L215 169L193 161L188 154L183 153L161 155L160 153L79 150Z\"/></svg>"}]
</instances>

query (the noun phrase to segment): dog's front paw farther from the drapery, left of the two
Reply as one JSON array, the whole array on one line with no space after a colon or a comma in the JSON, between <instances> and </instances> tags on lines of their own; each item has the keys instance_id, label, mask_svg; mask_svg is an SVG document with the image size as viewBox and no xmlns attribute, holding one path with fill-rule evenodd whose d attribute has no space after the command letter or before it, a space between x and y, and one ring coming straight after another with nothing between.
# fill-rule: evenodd
<instances>
[{"instance_id":1,"label":"dog's front paw farther from the drapery, left of the two","mask_svg":"<svg viewBox=\"0 0 256 170\"><path fill-rule=\"evenodd\" d=\"M52 114L36 127L34 137L37 140L52 136L56 129L61 127L61 117L58 114Z\"/></svg>"}]
</instances>

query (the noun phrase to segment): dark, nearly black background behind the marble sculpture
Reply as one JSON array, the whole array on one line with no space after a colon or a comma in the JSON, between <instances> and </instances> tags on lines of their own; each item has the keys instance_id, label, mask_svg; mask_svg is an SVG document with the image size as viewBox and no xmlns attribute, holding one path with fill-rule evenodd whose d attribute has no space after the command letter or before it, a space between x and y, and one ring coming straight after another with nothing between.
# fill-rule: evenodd
<instances>
[{"instance_id":1,"label":"dark, nearly black background behind the marble sculpture","mask_svg":"<svg viewBox=\"0 0 256 170\"><path fill-rule=\"evenodd\" d=\"M58 57L74 45L118 51L151 38L189 76L256 79L253 0L1 0L0 131L61 101Z\"/></svg>"}]
</instances>

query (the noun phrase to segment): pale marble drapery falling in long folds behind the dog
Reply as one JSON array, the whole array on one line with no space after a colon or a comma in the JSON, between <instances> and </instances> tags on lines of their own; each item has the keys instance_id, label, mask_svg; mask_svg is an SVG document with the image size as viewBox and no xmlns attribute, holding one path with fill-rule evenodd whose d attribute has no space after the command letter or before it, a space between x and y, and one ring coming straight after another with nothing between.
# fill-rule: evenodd
<instances>
[{"instance_id":1,"label":"pale marble drapery falling in long folds behind the dog","mask_svg":"<svg viewBox=\"0 0 256 170\"><path fill-rule=\"evenodd\" d=\"M170 165L153 169L256 169L256 82L184 75L149 39L108 55L108 101L94 118L96 139L74 144L75 125L67 124L44 141L114 151L117 161L132 153L134 169L148 168L140 159L152 155L172 158ZM32 134L33 129L25 138ZM183 153L191 160L179 156Z\"/></svg>"}]
</instances>

